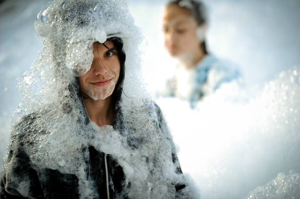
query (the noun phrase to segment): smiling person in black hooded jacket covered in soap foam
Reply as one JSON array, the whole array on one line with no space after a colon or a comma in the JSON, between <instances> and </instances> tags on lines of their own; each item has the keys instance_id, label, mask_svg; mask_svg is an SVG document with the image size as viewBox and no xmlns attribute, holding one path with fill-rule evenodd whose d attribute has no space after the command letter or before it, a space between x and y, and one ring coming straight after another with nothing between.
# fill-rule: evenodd
<instances>
[{"instance_id":1,"label":"smiling person in black hooded jacket covered in soap foam","mask_svg":"<svg viewBox=\"0 0 300 199\"><path fill-rule=\"evenodd\" d=\"M143 86L127 4L53 0L35 30L43 47L18 79L0 197L199 198Z\"/></svg>"}]
</instances>

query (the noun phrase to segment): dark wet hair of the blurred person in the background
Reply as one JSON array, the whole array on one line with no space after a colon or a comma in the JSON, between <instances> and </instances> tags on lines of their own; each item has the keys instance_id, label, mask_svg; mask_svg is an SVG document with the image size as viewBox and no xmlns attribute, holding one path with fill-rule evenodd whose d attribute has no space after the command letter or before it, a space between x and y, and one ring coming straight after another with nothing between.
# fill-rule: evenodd
<instances>
[{"instance_id":1,"label":"dark wet hair of the blurred person in the background","mask_svg":"<svg viewBox=\"0 0 300 199\"><path fill-rule=\"evenodd\" d=\"M177 5L189 10L191 16L197 21L198 26L207 24L207 11L203 2L199 0L172 0L167 3L166 7L168 8L172 5ZM207 54L205 41L202 41L200 46L203 52Z\"/></svg>"}]
</instances>

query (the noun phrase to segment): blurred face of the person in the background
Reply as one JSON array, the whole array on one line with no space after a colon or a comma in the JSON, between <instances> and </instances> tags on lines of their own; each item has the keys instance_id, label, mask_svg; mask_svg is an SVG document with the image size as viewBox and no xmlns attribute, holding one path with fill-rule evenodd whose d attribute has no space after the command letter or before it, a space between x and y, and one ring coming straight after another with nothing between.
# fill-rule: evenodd
<instances>
[{"instance_id":1,"label":"blurred face of the person in the background","mask_svg":"<svg viewBox=\"0 0 300 199\"><path fill-rule=\"evenodd\" d=\"M196 33L197 22L190 11L177 5L167 7L163 16L165 45L172 56L199 51Z\"/></svg>"}]
</instances>

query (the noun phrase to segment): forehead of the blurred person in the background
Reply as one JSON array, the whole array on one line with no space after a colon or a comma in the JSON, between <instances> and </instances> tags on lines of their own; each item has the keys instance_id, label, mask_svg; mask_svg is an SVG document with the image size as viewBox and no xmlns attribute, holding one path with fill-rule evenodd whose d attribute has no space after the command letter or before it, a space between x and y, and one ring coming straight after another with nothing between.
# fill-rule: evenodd
<instances>
[{"instance_id":1,"label":"forehead of the blurred person in the background","mask_svg":"<svg viewBox=\"0 0 300 199\"><path fill-rule=\"evenodd\" d=\"M163 16L164 26L175 26L185 24L197 24L196 20L191 16L191 12L177 5L171 5L165 9Z\"/></svg>"}]
</instances>

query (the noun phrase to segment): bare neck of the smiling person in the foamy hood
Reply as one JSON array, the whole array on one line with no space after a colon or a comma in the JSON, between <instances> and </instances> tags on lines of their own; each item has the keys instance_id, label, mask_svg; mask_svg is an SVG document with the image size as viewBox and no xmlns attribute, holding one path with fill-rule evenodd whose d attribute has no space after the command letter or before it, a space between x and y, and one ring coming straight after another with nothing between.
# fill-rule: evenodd
<instances>
[{"instance_id":1,"label":"bare neck of the smiling person in the foamy hood","mask_svg":"<svg viewBox=\"0 0 300 199\"><path fill-rule=\"evenodd\" d=\"M88 118L98 126L113 125L114 107L112 96L97 101L92 98L83 99Z\"/></svg>"}]
</instances>

